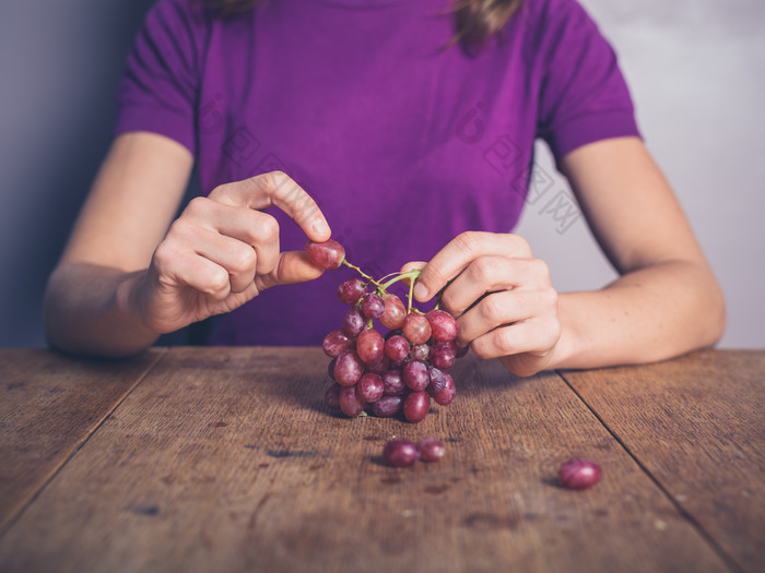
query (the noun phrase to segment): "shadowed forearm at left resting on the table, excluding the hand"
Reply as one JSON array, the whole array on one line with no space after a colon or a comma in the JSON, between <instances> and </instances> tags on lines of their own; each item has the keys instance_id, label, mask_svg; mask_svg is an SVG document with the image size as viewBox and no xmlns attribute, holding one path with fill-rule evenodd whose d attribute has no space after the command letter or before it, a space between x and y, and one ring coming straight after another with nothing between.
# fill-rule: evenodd
<instances>
[{"instance_id":1,"label":"shadowed forearm at left resting on the table, excluding the hand","mask_svg":"<svg viewBox=\"0 0 765 573\"><path fill-rule=\"evenodd\" d=\"M132 302L143 273L87 263L59 266L43 309L48 343L68 353L115 358L151 346L158 334L144 326Z\"/></svg>"}]
</instances>

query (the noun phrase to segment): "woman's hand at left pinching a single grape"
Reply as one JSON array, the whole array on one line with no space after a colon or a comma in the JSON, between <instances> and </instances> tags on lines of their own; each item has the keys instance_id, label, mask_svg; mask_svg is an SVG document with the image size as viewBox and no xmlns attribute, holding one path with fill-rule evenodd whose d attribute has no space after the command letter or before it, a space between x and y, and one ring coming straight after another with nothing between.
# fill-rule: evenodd
<instances>
[{"instance_id":1,"label":"woman's hand at left pinching a single grape","mask_svg":"<svg viewBox=\"0 0 765 573\"><path fill-rule=\"evenodd\" d=\"M274 285L322 274L303 251L280 251L275 205L314 241L330 229L316 202L286 174L272 171L191 200L137 276L125 302L156 333L232 311ZM126 285L127 286L127 285Z\"/></svg>"}]
</instances>

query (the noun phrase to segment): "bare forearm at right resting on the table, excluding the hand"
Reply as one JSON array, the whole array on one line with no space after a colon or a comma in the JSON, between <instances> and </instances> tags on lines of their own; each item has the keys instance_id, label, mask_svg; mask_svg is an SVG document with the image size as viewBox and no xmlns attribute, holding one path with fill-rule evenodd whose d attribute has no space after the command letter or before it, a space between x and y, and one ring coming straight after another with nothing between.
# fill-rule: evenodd
<instances>
[{"instance_id":1,"label":"bare forearm at right resting on the table, excluding the hand","mask_svg":"<svg viewBox=\"0 0 765 573\"><path fill-rule=\"evenodd\" d=\"M720 288L704 264L672 261L558 299L554 368L651 362L715 344L726 322Z\"/></svg>"}]
</instances>

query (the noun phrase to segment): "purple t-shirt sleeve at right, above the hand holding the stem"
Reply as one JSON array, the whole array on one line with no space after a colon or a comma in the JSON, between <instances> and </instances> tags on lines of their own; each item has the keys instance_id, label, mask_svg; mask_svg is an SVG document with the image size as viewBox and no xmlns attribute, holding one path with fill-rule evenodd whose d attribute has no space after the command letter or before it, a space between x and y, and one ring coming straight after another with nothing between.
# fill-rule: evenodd
<instances>
[{"instance_id":1,"label":"purple t-shirt sleeve at right, above the hand holding the stem","mask_svg":"<svg viewBox=\"0 0 765 573\"><path fill-rule=\"evenodd\" d=\"M596 23L575 0L546 8L537 46L543 70L538 136L558 162L588 143L640 136L616 53Z\"/></svg>"}]
</instances>

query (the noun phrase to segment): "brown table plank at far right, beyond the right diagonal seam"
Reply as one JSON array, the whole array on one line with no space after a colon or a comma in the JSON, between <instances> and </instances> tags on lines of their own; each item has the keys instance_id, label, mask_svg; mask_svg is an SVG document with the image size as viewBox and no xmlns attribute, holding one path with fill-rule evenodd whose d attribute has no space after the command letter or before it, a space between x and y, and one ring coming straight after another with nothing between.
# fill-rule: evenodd
<instances>
[{"instance_id":1,"label":"brown table plank at far right, beyond the right diagonal seam","mask_svg":"<svg viewBox=\"0 0 765 573\"><path fill-rule=\"evenodd\" d=\"M765 353L564 377L740 568L763 571Z\"/></svg>"}]
</instances>

